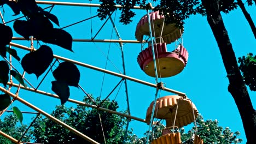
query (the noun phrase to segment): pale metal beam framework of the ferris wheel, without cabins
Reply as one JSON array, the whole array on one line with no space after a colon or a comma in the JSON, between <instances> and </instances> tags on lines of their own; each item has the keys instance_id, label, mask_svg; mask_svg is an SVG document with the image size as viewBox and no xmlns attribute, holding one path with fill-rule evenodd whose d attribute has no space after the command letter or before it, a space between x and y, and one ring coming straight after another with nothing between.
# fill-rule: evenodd
<instances>
[{"instance_id":1,"label":"pale metal beam framework of the ferris wheel, without cabins","mask_svg":"<svg viewBox=\"0 0 256 144\"><path fill-rule=\"evenodd\" d=\"M9 0L9 1L13 1L13 0ZM89 3L53 2L53 1L36 1L36 2L37 2L38 4L50 4L50 5L52 5L52 6L50 6L51 8L53 8L54 5L68 5L68 6L79 6L79 7L100 7L100 4L91 4L91 3L89 4ZM47 8L50 8L50 7L47 7ZM117 7L117 8L122 8L121 5L115 5L115 7ZM133 7L133 9L143 9L143 8L135 6L135 7ZM1 11L0 11L0 14L1 14ZM3 23L5 24L2 14L1 14L1 18L2 18ZM20 18L21 18L21 17L20 17ZM92 18L92 17L91 17L91 18ZM74 41L74 42L96 42L96 43L119 43L119 44L120 44L120 47L121 47L122 55L123 55L123 43L135 43L135 44L136 44L136 43L140 43L140 42L137 41L137 40L122 40L121 37L120 37L120 35L119 35L119 33L118 33L118 31L117 31L117 28L116 28L115 25L114 25L114 22L113 22L112 18L111 18L110 16L109 16L109 18L110 18L110 20L112 21L112 25L113 25L113 27L115 28L115 31L117 32L117 35L118 35L118 37L119 37L118 40L117 40L117 39L114 39L114 40L113 40L113 39L94 39L94 38L96 37L96 35L95 35L95 37L92 38L92 39L73 39L73 41ZM18 18L18 19L19 19L19 18ZM90 18L89 18L89 19L90 19ZM85 19L85 20L88 20L88 19ZM85 21L85 20L83 20L83 21ZM82 21L81 21L81 22L82 22ZM7 22L7 23L8 23L8 22ZM74 23L74 25L75 25L75 24L76 24L76 23ZM73 24L72 24L72 25L73 25ZM71 26L71 25L70 25L70 26ZM104 24L103 24L103 26L104 26ZM103 27L103 26L102 26L102 27ZM100 29L100 30L101 30L101 29ZM100 30L99 30L99 31L100 31ZM99 31L98 31L98 32L99 32ZM25 40L25 38L13 37L13 40ZM19 45L19 44L13 43L13 42L11 42L9 45L10 45L10 46L18 47L18 48L23 49L23 50L32 51L32 50L34 50L34 49L33 49L33 45L32 45L32 41L33 41L33 40L35 40L35 39L33 39L33 38L31 37L31 47ZM142 43L146 43L146 42L147 42L146 40L143 40ZM102 73L106 73L106 74L114 75L114 76L117 76L117 77L121 77L122 79L125 80L125 88L126 88L127 104L128 104L128 106L129 106L129 100L128 100L128 93L127 93L127 83L126 83L126 80L130 80L130 81L133 81L133 82L141 83L141 84L143 84L143 85L150 86L150 87L154 87L154 88L156 88L156 89L158 88L157 83L156 83L156 84L154 84L154 83L149 83L149 82L146 82L146 81L142 81L142 80L139 80L139 79L136 79L136 78L127 76L127 75L125 74L125 68L124 68L124 74L119 74L119 73L115 73L115 72L113 72L113 71L109 71L109 70L106 70L106 69L98 68L98 67L95 67L95 66L93 66L93 65L89 65L89 64L86 64L86 63L74 61L74 60L72 60L72 59L68 59L68 58L65 58L65 57L57 56L57 55L54 55L54 58L56 58L56 60L57 60L57 59L60 59L60 60L62 60L62 61L71 62L71 63L74 63L74 64L76 64L76 65L80 65L80 66L85 67L85 68L94 69L94 70L97 70L97 71L101 71ZM122 58L123 58L123 64L124 64L124 55L123 55ZM10 56L9 59L10 59L9 64L11 65L11 56ZM5 61L7 61L7 59L5 59ZM11 67L12 67L12 65L11 65ZM11 68L11 67L10 67L10 68ZM15 68L14 68L14 69L15 69ZM25 72L23 73L23 77L24 77L24 75L25 75ZM28 81L27 81L27 82L28 82ZM2 91L2 92L4 92L4 93L8 93L11 97L13 97L13 101L14 101L14 100L18 100L18 101L20 101L21 103L23 103L23 104L27 105L28 107L30 107L31 109L37 111L37 112L38 112L38 115L39 115L39 114L42 114L42 115L44 115L45 117L48 117L49 119L51 119L51 120L53 120L54 122L56 122L56 123L62 125L62 126L65 127L66 129L72 131L73 133L77 134L78 136L82 137L83 139L85 139L85 140L87 140L87 141L89 141L89 142L91 142L91 143L98 143L98 142L96 142L95 140L90 139L90 137L88 137L88 136L86 136L86 135L80 133L79 131L75 130L74 128L70 127L69 125L67 125L67 124L65 124L65 123L63 123L63 122L61 122L59 119L57 119L57 118L55 118L55 117L49 115L49 113L44 112L43 110L39 109L38 107L36 107L36 106L32 105L31 103L28 103L26 100L20 98L20 97L19 97L19 89L22 88L22 89L25 89L25 90L27 90L27 91L36 92L36 93L43 94L43 95L48 95L48 96L53 97L53 98L59 98L56 94L51 94L51 93L48 93L48 92L40 91L40 90L38 90L37 88L34 88L32 85L31 85L31 86L32 86L33 88L29 88L29 87L21 86L20 84L19 84L19 85L18 85L18 84L15 84L15 83L12 82L11 76L10 76L10 82L8 82L8 85L10 86L8 90L7 90L7 89L4 89L3 87L0 87L0 91ZM10 92L11 86L18 87L18 91L16 92L16 94ZM182 92L179 92L179 91L170 89L170 88L161 87L161 89L162 89L163 91L167 91L167 92L171 92L171 93L178 94L178 95L180 95L180 96L182 96L182 97L185 97L185 96L186 96L185 93L182 93ZM68 99L68 101L71 102L71 103L75 103L75 104L79 104L79 105L83 105L83 106L88 106L88 107L91 107L91 108L93 108L93 109L98 109L98 110L101 110L101 111L106 111L106 112L109 112L109 113L114 113L115 115L127 117L127 118L129 118L129 119L134 119L134 120L136 120L136 121L140 121L140 122L146 123L146 121L145 121L144 119L131 116L131 115L130 115L130 112L129 112L129 115L127 115L127 114L125 114L125 113L120 113L120 112L117 112L117 111L112 111L112 110L105 109L105 108L100 107L100 106L98 106L98 105L86 104L86 103L84 103L84 102L82 102L82 101L78 101L78 100ZM3 112L4 112L4 111L3 111ZM32 112L27 112L27 113L32 113ZM0 116L1 116L1 115L0 115ZM36 118L35 118L35 119L36 119ZM35 120L35 119L34 119L34 120ZM32 122L32 123L33 123L33 122ZM32 123L31 123L31 124L32 124ZM128 124L129 124L129 123L128 123ZM128 125L128 124L127 124L127 125ZM127 128L126 128L126 129L127 129ZM26 133L26 131L25 131L25 133ZM25 134L25 133L24 133L24 134ZM11 136L9 136L9 135L3 133L3 131L1 131L1 130L0 130L0 134L3 135L3 136L5 136L5 137L7 137L7 139L13 141L14 143L22 143L22 142L19 142L20 140L14 139L13 137L11 137ZM27 142L26 142L26 143L27 143ZM30 142L28 142L28 143L30 143Z\"/></svg>"}]
</instances>

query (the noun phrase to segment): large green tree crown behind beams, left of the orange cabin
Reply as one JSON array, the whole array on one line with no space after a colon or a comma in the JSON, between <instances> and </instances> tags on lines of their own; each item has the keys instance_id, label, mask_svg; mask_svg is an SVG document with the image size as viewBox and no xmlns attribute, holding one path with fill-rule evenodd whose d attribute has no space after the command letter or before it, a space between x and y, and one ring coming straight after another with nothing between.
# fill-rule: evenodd
<instances>
[{"instance_id":1,"label":"large green tree crown behind beams, left of the orange cabin","mask_svg":"<svg viewBox=\"0 0 256 144\"><path fill-rule=\"evenodd\" d=\"M89 98L85 98L84 102L91 103ZM101 102L100 99L96 99L96 103L100 104ZM119 106L116 101L107 99L101 107L117 111ZM56 106L56 110L51 115L71 125L71 127L91 137L91 139L104 143L100 115L106 142L121 143L124 139L125 130L123 127L126 119L118 115L80 105L77 105L77 107ZM33 140L38 143L88 143L48 118L39 117L33 124L30 133L33 135ZM131 134L131 131L129 134Z\"/></svg>"}]
</instances>

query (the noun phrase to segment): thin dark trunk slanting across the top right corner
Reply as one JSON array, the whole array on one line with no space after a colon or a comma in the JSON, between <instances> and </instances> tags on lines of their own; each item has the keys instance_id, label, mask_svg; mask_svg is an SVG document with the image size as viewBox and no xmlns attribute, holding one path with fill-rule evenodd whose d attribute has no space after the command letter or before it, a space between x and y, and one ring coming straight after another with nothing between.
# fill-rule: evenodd
<instances>
[{"instance_id":1,"label":"thin dark trunk slanting across the top right corner","mask_svg":"<svg viewBox=\"0 0 256 144\"><path fill-rule=\"evenodd\" d=\"M246 8L245 8L245 4L243 4L242 0L237 0L237 5L241 8L241 10L243 11L243 15L245 15L246 20L248 21L252 32L254 34L254 38L256 39L256 27L254 25L254 22L252 20L251 15L247 12Z\"/></svg>"}]
</instances>

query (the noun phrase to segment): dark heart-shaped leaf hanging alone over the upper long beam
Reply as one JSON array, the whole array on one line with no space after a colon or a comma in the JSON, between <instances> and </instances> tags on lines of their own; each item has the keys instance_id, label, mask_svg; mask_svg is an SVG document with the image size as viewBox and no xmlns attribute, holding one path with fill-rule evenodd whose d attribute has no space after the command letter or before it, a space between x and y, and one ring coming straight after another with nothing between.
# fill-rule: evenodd
<instances>
[{"instance_id":1,"label":"dark heart-shaped leaf hanging alone over the upper long beam","mask_svg":"<svg viewBox=\"0 0 256 144\"><path fill-rule=\"evenodd\" d=\"M21 60L21 66L28 74L36 74L38 78L53 62L53 58L53 50L42 45L37 51L27 53Z\"/></svg>"}]
</instances>

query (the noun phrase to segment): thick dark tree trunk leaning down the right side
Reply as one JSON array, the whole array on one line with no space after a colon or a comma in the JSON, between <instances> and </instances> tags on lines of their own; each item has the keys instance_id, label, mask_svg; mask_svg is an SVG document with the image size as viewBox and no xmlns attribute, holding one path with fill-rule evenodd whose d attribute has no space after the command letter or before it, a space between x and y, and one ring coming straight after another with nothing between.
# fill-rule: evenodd
<instances>
[{"instance_id":1,"label":"thick dark tree trunk leaning down the right side","mask_svg":"<svg viewBox=\"0 0 256 144\"><path fill-rule=\"evenodd\" d=\"M202 0L202 4L206 9L207 21L218 43L226 73L228 74L228 91L234 98L242 118L247 143L253 144L256 142L256 111L253 109L247 88L238 69L236 56L224 26L222 15L220 15L218 0Z\"/></svg>"}]
</instances>

